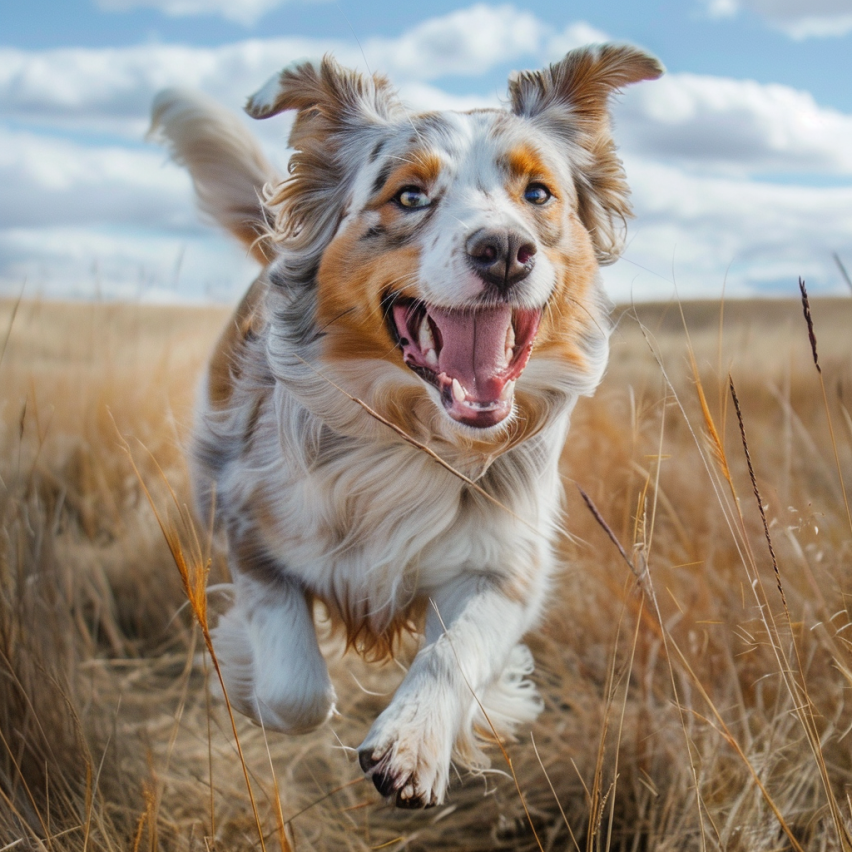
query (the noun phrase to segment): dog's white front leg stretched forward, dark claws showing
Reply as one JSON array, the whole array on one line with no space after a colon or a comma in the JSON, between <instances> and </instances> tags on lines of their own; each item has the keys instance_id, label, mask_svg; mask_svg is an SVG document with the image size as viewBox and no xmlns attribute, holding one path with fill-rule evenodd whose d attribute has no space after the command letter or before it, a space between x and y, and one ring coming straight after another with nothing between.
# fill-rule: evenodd
<instances>
[{"instance_id":1,"label":"dog's white front leg stretched forward, dark claws showing","mask_svg":"<svg viewBox=\"0 0 852 852\"><path fill-rule=\"evenodd\" d=\"M470 724L471 705L500 677L538 609L481 573L443 587L431 603L424 646L358 750L376 789L398 807L443 800L453 744ZM519 703L533 708L519 717L535 716L531 692L519 689Z\"/></svg>"}]
</instances>

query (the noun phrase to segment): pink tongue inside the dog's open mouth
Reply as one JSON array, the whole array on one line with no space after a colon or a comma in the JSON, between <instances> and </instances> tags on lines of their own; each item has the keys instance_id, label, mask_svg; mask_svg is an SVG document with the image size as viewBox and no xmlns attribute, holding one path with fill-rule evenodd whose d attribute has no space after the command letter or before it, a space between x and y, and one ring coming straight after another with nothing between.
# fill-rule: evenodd
<instances>
[{"instance_id":1,"label":"pink tongue inside the dog's open mouth","mask_svg":"<svg viewBox=\"0 0 852 852\"><path fill-rule=\"evenodd\" d=\"M438 369L458 379L479 402L496 400L506 384L506 333L512 322L508 305L476 311L430 308L441 332Z\"/></svg>"}]
</instances>

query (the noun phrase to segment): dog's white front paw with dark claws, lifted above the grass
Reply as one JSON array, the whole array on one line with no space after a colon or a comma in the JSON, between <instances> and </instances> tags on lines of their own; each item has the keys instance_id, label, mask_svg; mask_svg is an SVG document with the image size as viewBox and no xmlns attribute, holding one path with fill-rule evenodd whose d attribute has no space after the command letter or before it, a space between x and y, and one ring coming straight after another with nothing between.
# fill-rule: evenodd
<instances>
[{"instance_id":1,"label":"dog's white front paw with dark claws, lifted above the grass","mask_svg":"<svg viewBox=\"0 0 852 852\"><path fill-rule=\"evenodd\" d=\"M447 791L452 736L441 731L429 711L413 704L398 710L392 704L358 748L364 773L398 808L440 805Z\"/></svg>"}]
</instances>

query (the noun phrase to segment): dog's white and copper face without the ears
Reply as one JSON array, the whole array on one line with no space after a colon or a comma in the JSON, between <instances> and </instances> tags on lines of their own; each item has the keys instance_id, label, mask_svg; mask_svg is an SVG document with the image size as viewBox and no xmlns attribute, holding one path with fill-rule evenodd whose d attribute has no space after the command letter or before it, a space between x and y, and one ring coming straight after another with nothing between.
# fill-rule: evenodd
<instances>
[{"instance_id":1,"label":"dog's white and copper face without the ears","mask_svg":"<svg viewBox=\"0 0 852 852\"><path fill-rule=\"evenodd\" d=\"M395 359L476 429L510 415L534 345L570 342L595 270L568 163L531 130L497 111L412 117L361 170L319 269L339 355Z\"/></svg>"}]
</instances>

